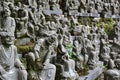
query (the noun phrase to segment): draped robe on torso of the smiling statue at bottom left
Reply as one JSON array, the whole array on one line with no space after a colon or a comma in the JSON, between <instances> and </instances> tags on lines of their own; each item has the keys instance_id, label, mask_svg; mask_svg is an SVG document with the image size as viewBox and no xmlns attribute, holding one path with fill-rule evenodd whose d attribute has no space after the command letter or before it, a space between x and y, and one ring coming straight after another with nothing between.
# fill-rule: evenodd
<instances>
[{"instance_id":1,"label":"draped robe on torso of the smiling statue at bottom left","mask_svg":"<svg viewBox=\"0 0 120 80\"><path fill-rule=\"evenodd\" d=\"M0 80L18 80L15 62L17 60L17 50L15 46L11 46L9 50L0 46ZM4 74L3 71L6 71Z\"/></svg>"}]
</instances>

